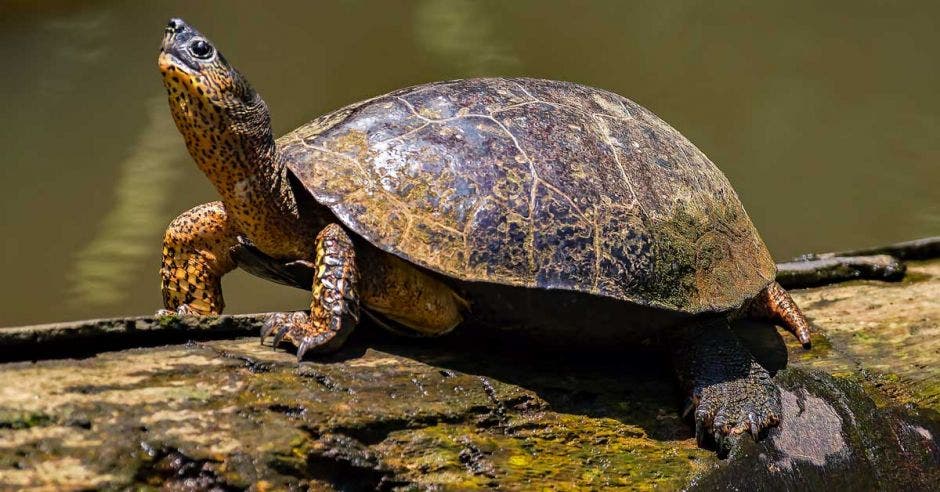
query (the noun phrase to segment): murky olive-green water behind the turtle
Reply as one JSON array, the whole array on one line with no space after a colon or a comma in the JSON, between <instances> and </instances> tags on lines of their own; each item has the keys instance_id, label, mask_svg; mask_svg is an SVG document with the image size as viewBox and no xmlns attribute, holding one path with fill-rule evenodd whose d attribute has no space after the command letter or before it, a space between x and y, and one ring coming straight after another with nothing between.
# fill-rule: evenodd
<instances>
[{"instance_id":1,"label":"murky olive-green water behind the turtle","mask_svg":"<svg viewBox=\"0 0 940 492\"><path fill-rule=\"evenodd\" d=\"M940 233L937 2L0 2L0 325L149 313L166 224L215 199L155 66L209 35L278 134L421 82L566 79L662 116L777 258ZM226 278L230 312L307 296Z\"/></svg>"}]
</instances>

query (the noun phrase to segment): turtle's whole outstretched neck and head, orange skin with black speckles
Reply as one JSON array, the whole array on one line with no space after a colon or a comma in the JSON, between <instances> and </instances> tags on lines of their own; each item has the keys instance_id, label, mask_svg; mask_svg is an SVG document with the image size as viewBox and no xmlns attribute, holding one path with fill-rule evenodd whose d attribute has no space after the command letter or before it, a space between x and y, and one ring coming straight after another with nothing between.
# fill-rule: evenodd
<instances>
[{"instance_id":1,"label":"turtle's whole outstretched neck and head, orange skin with black speckles","mask_svg":"<svg viewBox=\"0 0 940 492\"><path fill-rule=\"evenodd\" d=\"M272 257L310 259L311 238L328 223L325 214L300 216L277 160L268 109L248 82L221 57L206 60L199 71L180 61L192 59L186 43L201 38L185 25L179 32L168 28L158 59L186 148L241 234Z\"/></svg>"}]
</instances>

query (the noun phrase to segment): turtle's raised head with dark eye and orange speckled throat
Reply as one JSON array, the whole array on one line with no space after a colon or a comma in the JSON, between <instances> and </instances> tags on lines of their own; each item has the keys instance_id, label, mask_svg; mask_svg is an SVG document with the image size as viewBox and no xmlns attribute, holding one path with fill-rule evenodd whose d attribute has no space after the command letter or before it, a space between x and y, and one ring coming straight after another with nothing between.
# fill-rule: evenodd
<instances>
[{"instance_id":1,"label":"turtle's raised head with dark eye and orange speckled throat","mask_svg":"<svg viewBox=\"0 0 940 492\"><path fill-rule=\"evenodd\" d=\"M176 126L210 178L233 165L267 163L274 145L268 108L212 41L182 19L170 19L158 65ZM232 162L223 155L226 148L246 162Z\"/></svg>"}]
</instances>

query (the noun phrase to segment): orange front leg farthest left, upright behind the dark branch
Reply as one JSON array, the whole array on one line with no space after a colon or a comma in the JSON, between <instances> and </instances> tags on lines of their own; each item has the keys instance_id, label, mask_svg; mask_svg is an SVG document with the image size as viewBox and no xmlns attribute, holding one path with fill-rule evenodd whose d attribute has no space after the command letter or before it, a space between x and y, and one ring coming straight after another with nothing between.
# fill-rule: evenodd
<instances>
[{"instance_id":1,"label":"orange front leg farthest left, upright behind the dark branch","mask_svg":"<svg viewBox=\"0 0 940 492\"><path fill-rule=\"evenodd\" d=\"M163 237L165 309L158 314L222 313L222 276L235 269L229 250L237 237L222 202L199 205L174 219Z\"/></svg>"}]
</instances>

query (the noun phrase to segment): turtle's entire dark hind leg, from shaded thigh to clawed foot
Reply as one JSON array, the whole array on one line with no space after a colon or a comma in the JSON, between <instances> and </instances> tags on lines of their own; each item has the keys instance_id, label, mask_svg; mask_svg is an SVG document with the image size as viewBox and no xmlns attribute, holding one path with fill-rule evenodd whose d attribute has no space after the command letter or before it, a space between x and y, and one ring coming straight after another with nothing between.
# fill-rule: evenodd
<instances>
[{"instance_id":1,"label":"turtle's entire dark hind leg, from shaded thigh to clawed foot","mask_svg":"<svg viewBox=\"0 0 940 492\"><path fill-rule=\"evenodd\" d=\"M706 438L726 452L731 439L760 433L780 421L780 390L751 355L725 319L700 321L679 330L673 339L679 380L694 409L699 445Z\"/></svg>"}]
</instances>

